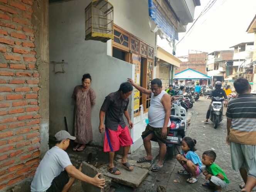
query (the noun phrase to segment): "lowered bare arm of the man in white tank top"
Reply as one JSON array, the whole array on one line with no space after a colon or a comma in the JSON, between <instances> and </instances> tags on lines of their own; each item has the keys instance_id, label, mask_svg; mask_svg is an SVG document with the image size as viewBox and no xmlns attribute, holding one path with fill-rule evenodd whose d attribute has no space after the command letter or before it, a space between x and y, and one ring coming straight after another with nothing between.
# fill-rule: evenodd
<instances>
[{"instance_id":1,"label":"lowered bare arm of the man in white tank top","mask_svg":"<svg viewBox=\"0 0 256 192\"><path fill-rule=\"evenodd\" d=\"M165 109L165 121L163 123L163 128L162 128L162 138L165 138L167 135L167 126L168 126L170 113L171 113L171 100L168 94L163 94L162 99L163 99L162 101L163 108Z\"/></svg>"}]
</instances>

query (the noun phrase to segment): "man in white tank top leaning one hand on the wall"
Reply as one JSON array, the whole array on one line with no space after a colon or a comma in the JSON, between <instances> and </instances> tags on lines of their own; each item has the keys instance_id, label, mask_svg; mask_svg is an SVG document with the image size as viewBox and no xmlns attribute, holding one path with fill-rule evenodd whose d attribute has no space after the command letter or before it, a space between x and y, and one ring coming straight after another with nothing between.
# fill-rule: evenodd
<instances>
[{"instance_id":1,"label":"man in white tank top leaning one hand on the wall","mask_svg":"<svg viewBox=\"0 0 256 192\"><path fill-rule=\"evenodd\" d=\"M137 162L143 163L152 161L150 140L157 141L160 147L158 162L151 169L152 171L157 172L163 167L163 158L166 153L165 143L171 124L171 99L170 96L162 90L162 81L160 79L153 79L151 81L151 90L138 86L130 78L128 81L138 89L138 91L151 96L150 107L148 109L148 125L141 135L147 156L140 158Z\"/></svg>"}]
</instances>

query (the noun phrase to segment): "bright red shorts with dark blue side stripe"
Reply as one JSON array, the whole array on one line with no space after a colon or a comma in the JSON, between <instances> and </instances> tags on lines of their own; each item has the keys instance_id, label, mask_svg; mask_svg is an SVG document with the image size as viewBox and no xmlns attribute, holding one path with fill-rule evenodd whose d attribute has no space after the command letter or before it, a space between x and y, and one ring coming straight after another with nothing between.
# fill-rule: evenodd
<instances>
[{"instance_id":1,"label":"bright red shorts with dark blue side stripe","mask_svg":"<svg viewBox=\"0 0 256 192\"><path fill-rule=\"evenodd\" d=\"M109 130L106 128L104 136L104 152L115 152L118 151L120 146L127 146L133 144L130 132L127 126L121 128L120 125L117 127L117 131Z\"/></svg>"}]
</instances>

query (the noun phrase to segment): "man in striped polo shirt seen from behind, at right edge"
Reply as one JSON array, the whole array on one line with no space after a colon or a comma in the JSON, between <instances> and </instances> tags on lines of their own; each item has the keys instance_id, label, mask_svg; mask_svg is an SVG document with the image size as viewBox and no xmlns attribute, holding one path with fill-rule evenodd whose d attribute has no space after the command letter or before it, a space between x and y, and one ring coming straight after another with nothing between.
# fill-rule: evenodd
<instances>
[{"instance_id":1,"label":"man in striped polo shirt seen from behind, at right edge","mask_svg":"<svg viewBox=\"0 0 256 192\"><path fill-rule=\"evenodd\" d=\"M247 79L234 81L238 98L227 106L227 139L230 144L232 168L239 170L245 185L241 191L250 192L256 186L256 98Z\"/></svg>"}]
</instances>

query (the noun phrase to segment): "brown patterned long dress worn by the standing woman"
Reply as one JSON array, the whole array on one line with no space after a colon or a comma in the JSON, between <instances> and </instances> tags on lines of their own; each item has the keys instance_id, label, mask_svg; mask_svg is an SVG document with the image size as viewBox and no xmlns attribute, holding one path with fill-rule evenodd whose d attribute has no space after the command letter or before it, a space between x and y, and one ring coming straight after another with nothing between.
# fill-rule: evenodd
<instances>
[{"instance_id":1,"label":"brown patterned long dress worn by the standing woman","mask_svg":"<svg viewBox=\"0 0 256 192\"><path fill-rule=\"evenodd\" d=\"M72 98L76 101L73 131L76 143L87 144L93 140L91 106L95 104L95 93L91 88L83 91L82 87L82 85L77 85L72 94Z\"/></svg>"}]
</instances>

